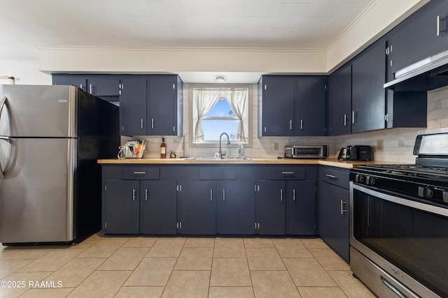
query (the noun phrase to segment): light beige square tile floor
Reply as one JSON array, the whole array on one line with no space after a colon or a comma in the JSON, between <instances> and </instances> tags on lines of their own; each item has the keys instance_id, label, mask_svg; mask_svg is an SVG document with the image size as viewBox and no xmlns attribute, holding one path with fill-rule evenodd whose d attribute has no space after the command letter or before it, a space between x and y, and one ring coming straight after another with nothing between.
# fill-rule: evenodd
<instances>
[{"instance_id":1,"label":"light beige square tile floor","mask_svg":"<svg viewBox=\"0 0 448 298\"><path fill-rule=\"evenodd\" d=\"M321 239L103 237L0 248L0 297L374 297Z\"/></svg>"}]
</instances>

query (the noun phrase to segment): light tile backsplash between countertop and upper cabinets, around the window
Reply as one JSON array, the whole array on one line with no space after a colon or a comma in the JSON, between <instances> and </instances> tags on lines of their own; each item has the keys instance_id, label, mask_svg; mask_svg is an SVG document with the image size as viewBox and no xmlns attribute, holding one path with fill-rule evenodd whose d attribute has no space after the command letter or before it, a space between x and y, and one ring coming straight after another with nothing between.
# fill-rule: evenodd
<instances>
[{"instance_id":1,"label":"light tile backsplash between countertop and upper cabinets, around the window","mask_svg":"<svg viewBox=\"0 0 448 298\"><path fill-rule=\"evenodd\" d=\"M183 134L186 136L186 156L213 156L218 146L213 148L193 148L188 142L189 137L189 99L188 84L183 84ZM330 157L335 158L339 149L353 144L370 145L377 161L390 161L391 163L414 163L412 154L416 135L421 133L448 132L448 87L428 92L428 127L427 128L391 128L367 133L340 135L337 137L257 137L258 131L258 92L257 85L252 86L252 147L245 147L244 154L249 158L283 156L283 148L287 144L327 144L330 146ZM139 138L139 137L134 137ZM148 141L145 157L159 157L162 137L140 137ZM122 143L129 140L122 137ZM377 149L377 142L383 142L383 149ZM183 137L165 136L167 156L175 151L176 156L183 156ZM278 144L278 150L276 145ZM237 155L237 148L230 147L223 142L223 150L228 155Z\"/></svg>"}]
</instances>

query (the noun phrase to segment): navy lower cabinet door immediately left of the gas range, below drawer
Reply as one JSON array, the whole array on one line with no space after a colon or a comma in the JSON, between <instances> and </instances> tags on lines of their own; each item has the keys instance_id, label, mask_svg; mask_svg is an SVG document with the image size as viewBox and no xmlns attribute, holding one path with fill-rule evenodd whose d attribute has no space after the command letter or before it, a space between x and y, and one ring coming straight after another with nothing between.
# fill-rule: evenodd
<instances>
[{"instance_id":1,"label":"navy lower cabinet door immediately left of the gas range, below drawer","mask_svg":"<svg viewBox=\"0 0 448 298\"><path fill-rule=\"evenodd\" d=\"M319 233L349 262L349 190L325 182L319 184Z\"/></svg>"}]
</instances>

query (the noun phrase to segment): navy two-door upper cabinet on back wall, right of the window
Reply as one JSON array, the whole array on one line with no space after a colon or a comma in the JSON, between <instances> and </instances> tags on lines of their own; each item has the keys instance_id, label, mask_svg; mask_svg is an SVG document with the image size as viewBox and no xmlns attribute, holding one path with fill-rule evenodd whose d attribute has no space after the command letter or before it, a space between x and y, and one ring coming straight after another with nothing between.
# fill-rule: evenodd
<instances>
[{"instance_id":1,"label":"navy two-door upper cabinet on back wall, right of the window","mask_svg":"<svg viewBox=\"0 0 448 298\"><path fill-rule=\"evenodd\" d=\"M263 75L258 136L325 135L325 76Z\"/></svg>"}]
</instances>

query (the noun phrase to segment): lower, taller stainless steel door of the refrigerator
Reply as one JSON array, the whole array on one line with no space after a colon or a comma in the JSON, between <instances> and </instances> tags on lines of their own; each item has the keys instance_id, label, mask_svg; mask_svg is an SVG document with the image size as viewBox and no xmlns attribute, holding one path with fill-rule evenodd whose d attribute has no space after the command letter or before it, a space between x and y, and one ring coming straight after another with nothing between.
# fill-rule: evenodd
<instances>
[{"instance_id":1,"label":"lower, taller stainless steel door of the refrigerator","mask_svg":"<svg viewBox=\"0 0 448 298\"><path fill-rule=\"evenodd\" d=\"M0 242L71 241L76 139L0 138Z\"/></svg>"}]
</instances>

